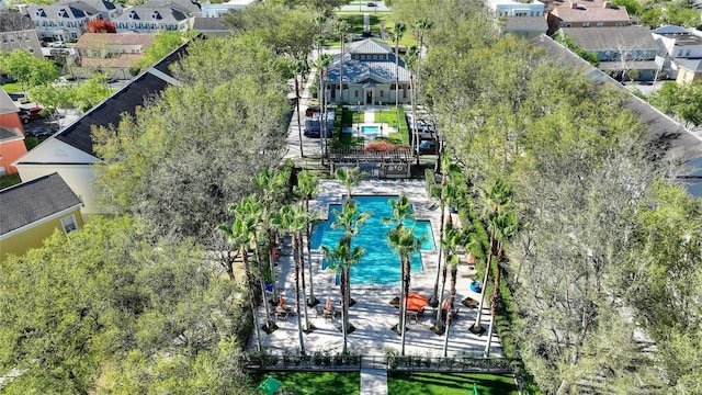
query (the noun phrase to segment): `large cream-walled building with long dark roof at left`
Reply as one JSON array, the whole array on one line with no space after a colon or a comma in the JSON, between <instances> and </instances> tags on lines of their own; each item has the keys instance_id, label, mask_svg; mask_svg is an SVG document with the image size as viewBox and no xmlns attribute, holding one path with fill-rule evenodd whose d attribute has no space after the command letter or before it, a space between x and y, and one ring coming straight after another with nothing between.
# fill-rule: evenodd
<instances>
[{"instance_id":1,"label":"large cream-walled building with long dark roof at left","mask_svg":"<svg viewBox=\"0 0 702 395\"><path fill-rule=\"evenodd\" d=\"M190 42L189 42L190 43ZM83 202L83 215L100 214L95 202L93 167L102 161L93 150L92 127L117 125L122 114L134 115L148 98L178 84L169 66L185 56L183 44L159 63L143 71L125 87L87 112L82 117L42 142L12 165L24 181L58 172Z\"/></svg>"}]
</instances>

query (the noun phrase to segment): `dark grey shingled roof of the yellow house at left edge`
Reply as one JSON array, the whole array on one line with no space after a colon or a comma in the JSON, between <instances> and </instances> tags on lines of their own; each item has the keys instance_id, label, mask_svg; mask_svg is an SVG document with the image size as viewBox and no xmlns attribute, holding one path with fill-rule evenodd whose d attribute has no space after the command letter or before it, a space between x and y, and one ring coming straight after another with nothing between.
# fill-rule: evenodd
<instances>
[{"instance_id":1,"label":"dark grey shingled roof of the yellow house at left edge","mask_svg":"<svg viewBox=\"0 0 702 395\"><path fill-rule=\"evenodd\" d=\"M58 173L0 190L0 235L82 203Z\"/></svg>"}]
</instances>

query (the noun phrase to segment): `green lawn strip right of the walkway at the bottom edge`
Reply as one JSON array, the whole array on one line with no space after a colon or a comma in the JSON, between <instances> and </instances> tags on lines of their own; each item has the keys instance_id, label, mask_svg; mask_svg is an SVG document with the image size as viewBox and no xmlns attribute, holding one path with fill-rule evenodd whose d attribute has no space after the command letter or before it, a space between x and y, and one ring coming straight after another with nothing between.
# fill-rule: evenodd
<instances>
[{"instance_id":1,"label":"green lawn strip right of the walkway at the bottom edge","mask_svg":"<svg viewBox=\"0 0 702 395\"><path fill-rule=\"evenodd\" d=\"M472 394L473 383L480 395L517 395L511 376L482 373L388 373L388 395L452 395Z\"/></svg>"}]
</instances>

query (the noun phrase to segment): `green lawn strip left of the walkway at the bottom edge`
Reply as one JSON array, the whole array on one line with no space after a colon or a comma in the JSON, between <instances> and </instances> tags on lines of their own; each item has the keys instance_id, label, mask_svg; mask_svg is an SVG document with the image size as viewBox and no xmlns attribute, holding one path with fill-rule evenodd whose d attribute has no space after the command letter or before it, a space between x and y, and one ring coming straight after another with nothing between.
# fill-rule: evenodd
<instances>
[{"instance_id":1,"label":"green lawn strip left of the walkway at the bottom edge","mask_svg":"<svg viewBox=\"0 0 702 395\"><path fill-rule=\"evenodd\" d=\"M258 386L268 374L253 376ZM271 372L283 382L284 392L295 395L355 395L361 388L361 373L349 372ZM254 393L258 394L258 393Z\"/></svg>"}]
</instances>

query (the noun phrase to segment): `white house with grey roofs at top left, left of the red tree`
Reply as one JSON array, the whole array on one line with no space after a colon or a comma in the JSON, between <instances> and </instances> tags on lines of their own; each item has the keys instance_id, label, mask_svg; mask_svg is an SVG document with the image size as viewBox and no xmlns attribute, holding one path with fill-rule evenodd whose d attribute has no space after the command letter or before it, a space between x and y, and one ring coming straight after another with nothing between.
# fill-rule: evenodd
<instances>
[{"instance_id":1,"label":"white house with grey roofs at top left, left of the red tree","mask_svg":"<svg viewBox=\"0 0 702 395\"><path fill-rule=\"evenodd\" d=\"M81 8L79 8L81 7ZM83 2L70 4L33 4L26 8L39 38L58 41L78 40L86 32L86 24L102 14Z\"/></svg>"}]
</instances>

